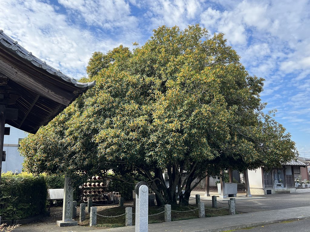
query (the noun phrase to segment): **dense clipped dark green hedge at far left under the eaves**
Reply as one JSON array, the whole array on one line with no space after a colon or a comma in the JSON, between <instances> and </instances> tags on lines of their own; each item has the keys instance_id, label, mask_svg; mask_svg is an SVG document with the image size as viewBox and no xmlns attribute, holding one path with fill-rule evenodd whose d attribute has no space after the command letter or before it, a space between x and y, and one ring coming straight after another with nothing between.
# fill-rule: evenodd
<instances>
[{"instance_id":1,"label":"dense clipped dark green hedge at far left under the eaves","mask_svg":"<svg viewBox=\"0 0 310 232\"><path fill-rule=\"evenodd\" d=\"M2 219L23 219L45 212L47 186L42 175L2 173L1 181Z\"/></svg>"}]
</instances>

